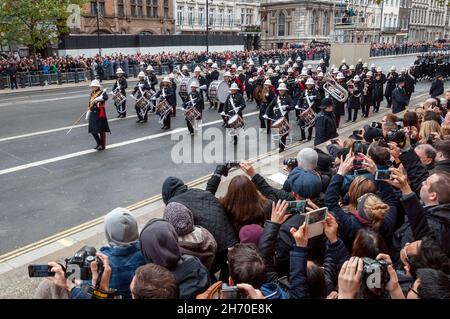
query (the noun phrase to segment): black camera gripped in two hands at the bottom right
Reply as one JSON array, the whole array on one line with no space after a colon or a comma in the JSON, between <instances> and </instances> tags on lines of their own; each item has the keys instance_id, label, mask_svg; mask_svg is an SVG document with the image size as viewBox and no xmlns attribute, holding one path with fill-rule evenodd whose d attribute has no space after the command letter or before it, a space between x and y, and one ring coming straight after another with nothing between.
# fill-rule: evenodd
<instances>
[{"instance_id":1,"label":"black camera gripped in two hands at the bottom right","mask_svg":"<svg viewBox=\"0 0 450 319\"><path fill-rule=\"evenodd\" d=\"M384 294L385 286L389 282L388 263L384 260L375 260L364 257L362 280L371 291Z\"/></svg>"}]
</instances>

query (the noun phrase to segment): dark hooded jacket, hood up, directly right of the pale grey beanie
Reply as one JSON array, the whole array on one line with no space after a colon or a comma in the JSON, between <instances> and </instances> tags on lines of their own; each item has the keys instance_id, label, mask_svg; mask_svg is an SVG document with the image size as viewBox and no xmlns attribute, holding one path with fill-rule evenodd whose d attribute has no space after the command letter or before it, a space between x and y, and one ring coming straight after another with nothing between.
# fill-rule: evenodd
<instances>
[{"instance_id":1,"label":"dark hooded jacket, hood up, directly right of the pale grey beanie","mask_svg":"<svg viewBox=\"0 0 450 319\"><path fill-rule=\"evenodd\" d=\"M180 285L180 299L194 299L209 287L208 270L196 257L182 255L178 235L163 219L152 219L139 236L141 252L147 263L155 263L173 272Z\"/></svg>"}]
</instances>

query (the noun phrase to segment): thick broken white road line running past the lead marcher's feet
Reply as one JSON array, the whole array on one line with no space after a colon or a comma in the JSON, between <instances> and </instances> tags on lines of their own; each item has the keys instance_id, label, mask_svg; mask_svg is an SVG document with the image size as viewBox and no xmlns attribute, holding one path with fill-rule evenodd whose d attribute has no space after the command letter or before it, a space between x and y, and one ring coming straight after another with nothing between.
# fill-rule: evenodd
<instances>
[{"instance_id":1,"label":"thick broken white road line running past the lead marcher's feet","mask_svg":"<svg viewBox=\"0 0 450 319\"><path fill-rule=\"evenodd\" d=\"M249 117L249 116L253 116L256 114L259 114L259 111L245 114L244 117ZM205 123L202 125L202 127L211 126L211 125L218 124L218 123L222 123L222 120ZM118 148L118 147L122 147L122 146L127 146L127 145L131 145L131 144L136 144L136 143L140 143L140 142L144 142L144 141L153 140L153 139L163 137L163 136L181 133L184 131L187 131L187 128L178 128L175 130L171 130L169 132L163 132L163 133L148 135L148 136L144 136L144 137L140 137L140 138L136 138L136 139L132 139L132 140L128 140L128 141L123 141L123 142L111 144L107 148L114 149L114 148ZM87 154L91 154L91 153L96 153L96 152L97 151L93 150L93 149L85 150L85 151L81 151L81 152L75 152L75 153L71 153L71 154L66 154L66 155L62 155L62 156L58 156L58 157L49 158L49 159L42 160L42 161L19 165L19 166L0 170L0 175L6 175L6 174L22 171L22 170L25 170L28 168L43 166L43 165L55 163L55 162L60 162L60 161L64 161L67 159L71 159L71 158L75 158L75 157L79 157L79 156L83 156L83 155L87 155Z\"/></svg>"}]
</instances>

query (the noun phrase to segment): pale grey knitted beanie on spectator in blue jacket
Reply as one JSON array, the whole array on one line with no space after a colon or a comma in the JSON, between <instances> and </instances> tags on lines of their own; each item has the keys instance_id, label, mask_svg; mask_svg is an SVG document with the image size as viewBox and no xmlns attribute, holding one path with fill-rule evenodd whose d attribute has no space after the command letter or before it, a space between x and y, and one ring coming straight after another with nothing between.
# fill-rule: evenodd
<instances>
[{"instance_id":1,"label":"pale grey knitted beanie on spectator in blue jacket","mask_svg":"<svg viewBox=\"0 0 450 319\"><path fill-rule=\"evenodd\" d=\"M105 216L105 235L111 247L127 246L139 239L136 219L126 208L118 207Z\"/></svg>"}]
</instances>

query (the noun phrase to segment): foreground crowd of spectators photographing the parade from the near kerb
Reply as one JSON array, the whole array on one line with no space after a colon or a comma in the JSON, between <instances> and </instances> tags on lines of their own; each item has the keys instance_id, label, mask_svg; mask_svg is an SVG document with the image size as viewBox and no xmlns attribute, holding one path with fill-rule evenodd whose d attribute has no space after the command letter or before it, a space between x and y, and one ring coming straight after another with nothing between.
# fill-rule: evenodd
<instances>
[{"instance_id":1,"label":"foreground crowd of spectators photographing the parade from the near kerb","mask_svg":"<svg viewBox=\"0 0 450 319\"><path fill-rule=\"evenodd\" d=\"M278 188L250 162L223 196L230 165L204 190L168 177L161 218L139 230L113 210L92 280L50 262L36 297L449 299L449 110L450 91L304 148ZM323 207L323 220L306 217Z\"/></svg>"}]
</instances>

